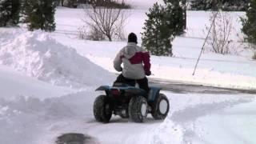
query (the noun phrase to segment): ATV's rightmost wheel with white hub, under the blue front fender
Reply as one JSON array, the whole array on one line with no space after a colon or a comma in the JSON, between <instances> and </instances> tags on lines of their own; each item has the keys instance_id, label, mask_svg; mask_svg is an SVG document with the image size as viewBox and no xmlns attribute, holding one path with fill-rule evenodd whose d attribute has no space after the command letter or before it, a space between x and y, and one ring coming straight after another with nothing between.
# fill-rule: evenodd
<instances>
[{"instance_id":1,"label":"ATV's rightmost wheel with white hub, under the blue front fender","mask_svg":"<svg viewBox=\"0 0 256 144\"><path fill-rule=\"evenodd\" d=\"M152 107L152 117L154 119L165 119L170 109L169 100L165 94L158 94Z\"/></svg>"}]
</instances>

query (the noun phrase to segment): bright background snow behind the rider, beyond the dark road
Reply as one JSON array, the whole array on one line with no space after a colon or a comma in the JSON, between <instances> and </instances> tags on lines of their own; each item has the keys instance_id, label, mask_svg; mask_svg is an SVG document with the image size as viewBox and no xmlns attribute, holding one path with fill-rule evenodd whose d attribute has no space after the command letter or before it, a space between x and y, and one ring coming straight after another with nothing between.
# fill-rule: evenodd
<instances>
[{"instance_id":1,"label":"bright background snow behind the rider, beyond the dark road","mask_svg":"<svg viewBox=\"0 0 256 144\"><path fill-rule=\"evenodd\" d=\"M68 14L62 12L63 9L57 11L57 23L64 21L68 22ZM80 10L69 10L70 14L74 14ZM128 18L126 24L126 34L134 32L138 34L138 45L141 45L141 35L143 22L146 18L146 10L132 10L130 11L130 18ZM242 12L234 12L231 15L234 16L234 30L232 35L241 33L241 22L237 22L243 15ZM151 78L162 78L174 81L182 81L189 83L197 83L208 86L221 86L229 88L241 88L241 89L255 89L256 88L256 63L251 60L252 51L242 49L243 46L238 45L238 55L222 55L212 54L206 52L202 54L202 59L198 64L198 69L193 76L194 66L197 62L198 55L202 49L204 38L206 37L206 26L210 25L209 16L210 12L205 11L188 11L188 30L183 37L177 37L174 39L173 53L174 58L169 57L155 57L151 56L152 73L154 75ZM71 16L70 16L71 17ZM73 25L66 26L65 29L70 30L69 27L78 29L77 22L82 20L78 15L73 17ZM198 23L200 21L200 23ZM70 23L70 22L69 22ZM57 31L63 31L62 25L57 25ZM110 72L115 72L112 62L115 54L118 50L122 49L126 45L126 42L92 42L78 40L77 36L69 34L59 34L58 32L53 34L54 38L58 42L66 46L73 47L82 56L89 58L90 61L96 63L98 66L102 66L104 69ZM242 37L242 36L241 36ZM241 38L236 37L236 41L241 41ZM91 47L93 46L93 48ZM86 49L87 48L87 49ZM108 50L108 53L103 51Z\"/></svg>"}]
</instances>

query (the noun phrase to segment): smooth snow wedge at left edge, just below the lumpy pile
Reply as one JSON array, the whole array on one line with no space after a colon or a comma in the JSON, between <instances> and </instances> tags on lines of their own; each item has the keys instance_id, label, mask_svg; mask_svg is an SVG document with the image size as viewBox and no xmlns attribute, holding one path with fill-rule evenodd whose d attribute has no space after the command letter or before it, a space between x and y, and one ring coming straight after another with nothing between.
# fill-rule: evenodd
<instances>
[{"instance_id":1,"label":"smooth snow wedge at left edge, just below the lumpy pile","mask_svg":"<svg viewBox=\"0 0 256 144\"><path fill-rule=\"evenodd\" d=\"M75 90L67 87L52 86L46 82L40 82L2 65L0 65L0 91L0 98L8 100L22 96L39 99L55 98L75 92Z\"/></svg>"}]
</instances>

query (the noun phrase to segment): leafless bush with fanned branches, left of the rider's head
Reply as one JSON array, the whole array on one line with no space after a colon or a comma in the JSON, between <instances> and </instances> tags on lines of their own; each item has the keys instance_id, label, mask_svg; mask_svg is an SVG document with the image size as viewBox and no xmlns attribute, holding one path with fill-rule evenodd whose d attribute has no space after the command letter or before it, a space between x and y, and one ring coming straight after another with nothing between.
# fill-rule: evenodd
<instances>
[{"instance_id":1,"label":"leafless bush with fanned branches, left of the rider's head","mask_svg":"<svg viewBox=\"0 0 256 144\"><path fill-rule=\"evenodd\" d=\"M122 35L122 29L126 21L126 10L122 8L114 7L111 3L116 3L118 0L93 0L93 5L87 6L84 10L86 18L88 20L86 25L90 26L94 30L100 31L102 34L112 41L114 35L118 34L118 37ZM124 1L122 1L124 3Z\"/></svg>"}]
</instances>

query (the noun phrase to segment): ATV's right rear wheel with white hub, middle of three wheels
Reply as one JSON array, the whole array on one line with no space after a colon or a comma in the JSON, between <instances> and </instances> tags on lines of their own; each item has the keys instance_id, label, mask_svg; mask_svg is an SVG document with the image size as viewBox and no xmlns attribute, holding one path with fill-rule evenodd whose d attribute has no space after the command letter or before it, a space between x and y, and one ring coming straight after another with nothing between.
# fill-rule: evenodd
<instances>
[{"instance_id":1,"label":"ATV's right rear wheel with white hub, middle of three wheels","mask_svg":"<svg viewBox=\"0 0 256 144\"><path fill-rule=\"evenodd\" d=\"M131 98L128 112L132 121L143 122L148 113L146 98L142 96Z\"/></svg>"}]
</instances>

